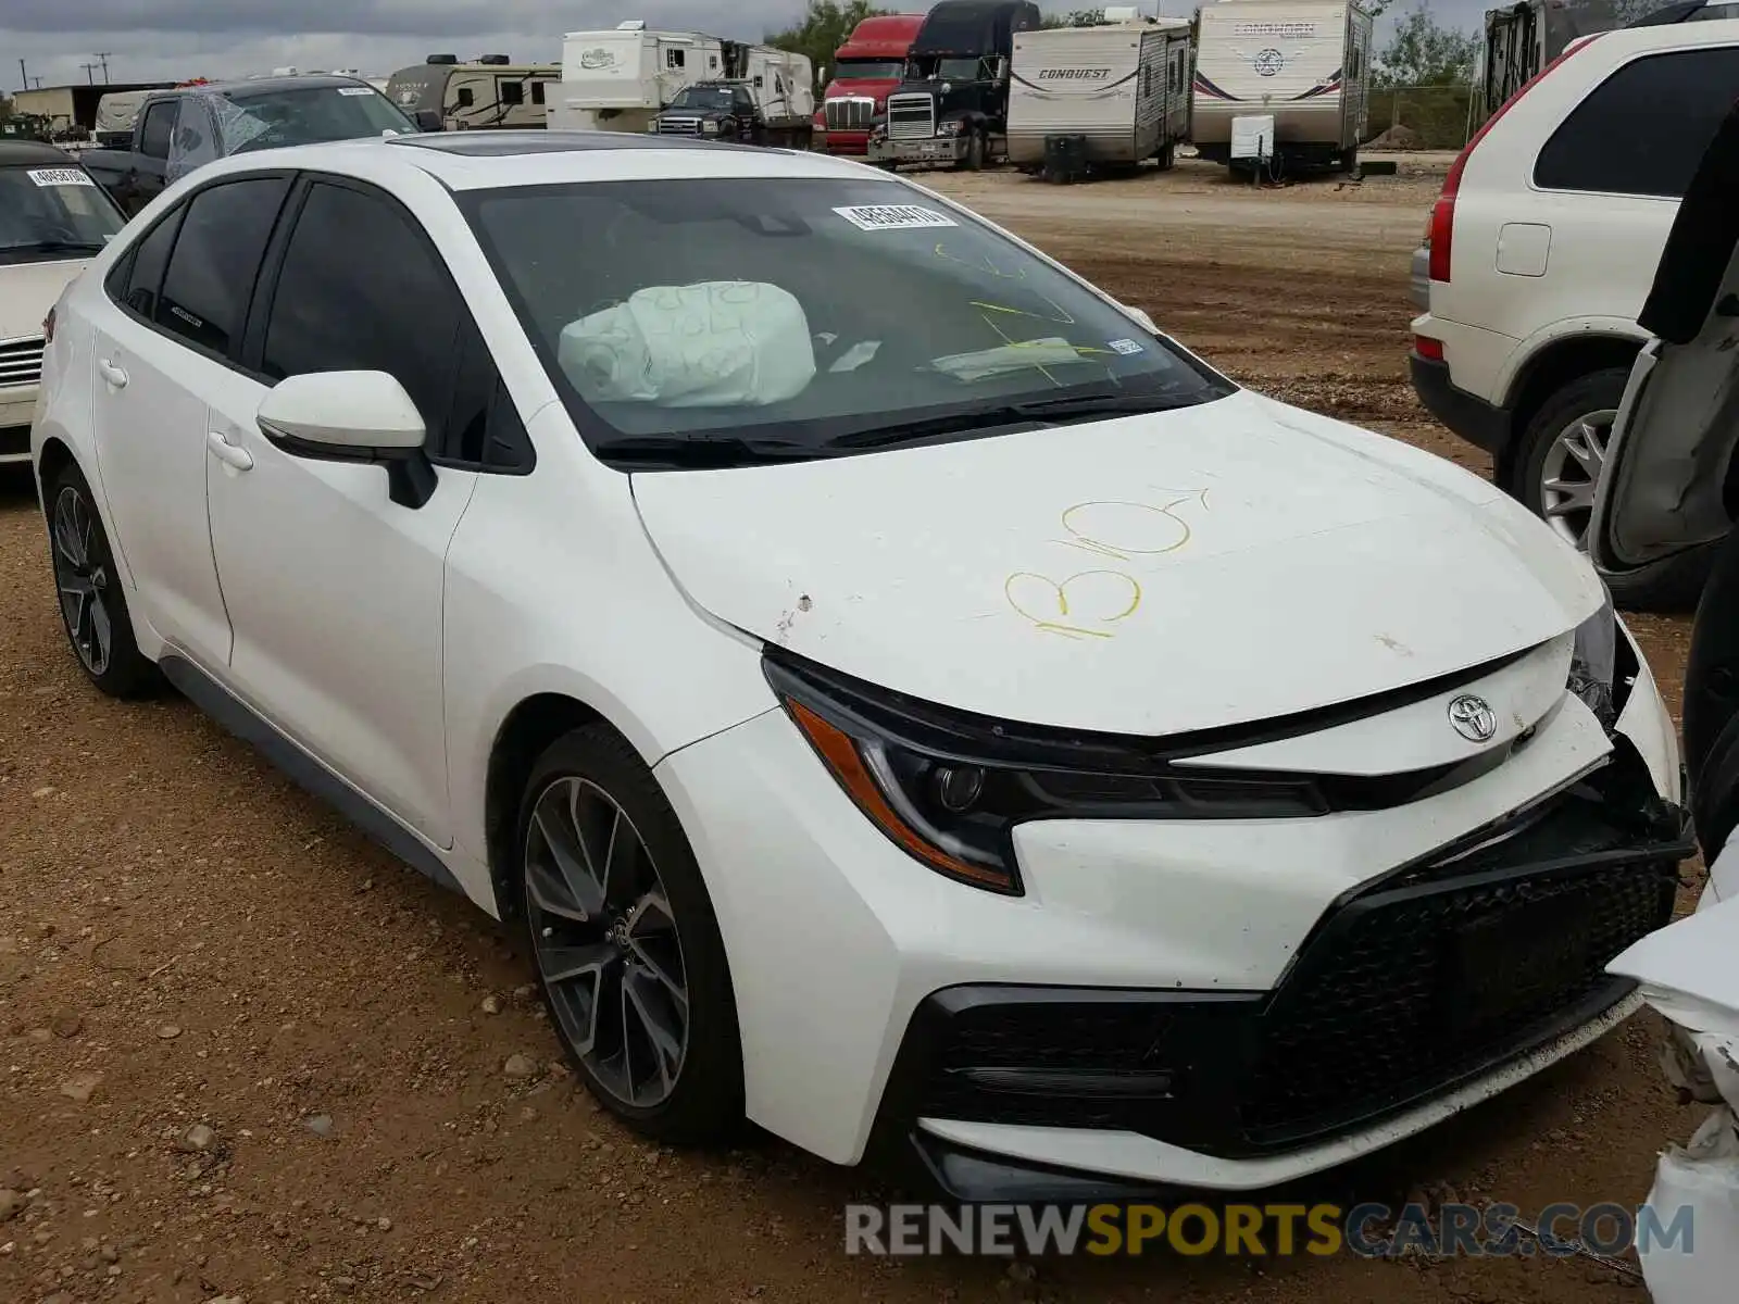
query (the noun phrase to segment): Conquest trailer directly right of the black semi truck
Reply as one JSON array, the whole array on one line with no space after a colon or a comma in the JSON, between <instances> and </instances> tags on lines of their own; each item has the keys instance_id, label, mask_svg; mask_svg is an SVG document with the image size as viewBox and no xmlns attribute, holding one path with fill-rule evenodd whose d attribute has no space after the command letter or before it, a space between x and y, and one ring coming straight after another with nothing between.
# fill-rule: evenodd
<instances>
[{"instance_id":1,"label":"Conquest trailer directly right of the black semi truck","mask_svg":"<svg viewBox=\"0 0 1739 1304\"><path fill-rule=\"evenodd\" d=\"M1045 137L1078 136L1085 162L1170 167L1189 137L1189 21L1130 19L1014 33L1009 162L1036 170Z\"/></svg>"}]
</instances>

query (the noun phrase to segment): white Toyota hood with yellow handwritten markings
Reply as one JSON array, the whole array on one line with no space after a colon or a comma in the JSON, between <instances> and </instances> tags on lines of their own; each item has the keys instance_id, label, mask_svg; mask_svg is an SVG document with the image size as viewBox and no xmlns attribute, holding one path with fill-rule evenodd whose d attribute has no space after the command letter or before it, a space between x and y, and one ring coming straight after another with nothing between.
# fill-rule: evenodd
<instances>
[{"instance_id":1,"label":"white Toyota hood with yellow handwritten markings","mask_svg":"<svg viewBox=\"0 0 1739 1304\"><path fill-rule=\"evenodd\" d=\"M1242 391L1163 414L633 476L690 600L1005 720L1174 734L1466 669L1572 629L1588 563L1429 454Z\"/></svg>"}]
</instances>

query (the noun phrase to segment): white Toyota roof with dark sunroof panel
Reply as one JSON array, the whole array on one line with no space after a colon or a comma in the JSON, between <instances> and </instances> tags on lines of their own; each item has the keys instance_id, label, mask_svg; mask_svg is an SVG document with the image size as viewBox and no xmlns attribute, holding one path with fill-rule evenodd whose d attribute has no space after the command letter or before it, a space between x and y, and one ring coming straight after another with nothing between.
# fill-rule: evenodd
<instances>
[{"instance_id":1,"label":"white Toyota roof with dark sunroof panel","mask_svg":"<svg viewBox=\"0 0 1739 1304\"><path fill-rule=\"evenodd\" d=\"M447 190L548 186L572 181L659 181L683 177L882 179L885 172L800 150L763 150L668 139L645 132L478 130L363 137L233 155L200 176L308 169L372 179L423 172Z\"/></svg>"}]
</instances>

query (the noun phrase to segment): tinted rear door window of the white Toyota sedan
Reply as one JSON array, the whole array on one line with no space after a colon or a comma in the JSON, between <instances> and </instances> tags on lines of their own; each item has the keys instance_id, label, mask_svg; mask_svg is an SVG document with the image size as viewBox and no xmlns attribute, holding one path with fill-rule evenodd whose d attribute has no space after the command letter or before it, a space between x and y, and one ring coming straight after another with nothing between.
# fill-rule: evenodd
<instances>
[{"instance_id":1,"label":"tinted rear door window of the white Toyota sedan","mask_svg":"<svg viewBox=\"0 0 1739 1304\"><path fill-rule=\"evenodd\" d=\"M231 356L289 177L249 177L188 200L153 320L190 344Z\"/></svg>"}]
</instances>

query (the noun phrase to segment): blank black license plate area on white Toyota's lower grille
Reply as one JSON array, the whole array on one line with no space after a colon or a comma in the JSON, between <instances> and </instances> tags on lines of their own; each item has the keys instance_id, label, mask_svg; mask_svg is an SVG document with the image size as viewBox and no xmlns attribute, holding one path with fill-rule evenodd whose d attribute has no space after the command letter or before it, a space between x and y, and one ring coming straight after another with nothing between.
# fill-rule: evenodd
<instances>
[{"instance_id":1,"label":"blank black license plate area on white Toyota's lower grille","mask_svg":"<svg viewBox=\"0 0 1739 1304\"><path fill-rule=\"evenodd\" d=\"M1489 915L1456 932L1443 1003L1478 1028L1551 998L1588 974L1589 902L1581 894Z\"/></svg>"}]
</instances>

